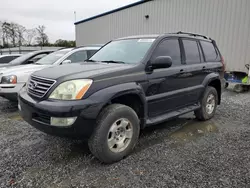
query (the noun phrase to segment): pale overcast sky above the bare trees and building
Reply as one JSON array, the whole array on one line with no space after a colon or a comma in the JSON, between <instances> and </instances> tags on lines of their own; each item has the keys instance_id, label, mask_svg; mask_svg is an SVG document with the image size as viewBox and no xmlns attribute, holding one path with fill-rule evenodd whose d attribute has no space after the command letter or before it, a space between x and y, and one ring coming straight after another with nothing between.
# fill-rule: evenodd
<instances>
[{"instance_id":1,"label":"pale overcast sky above the bare trees and building","mask_svg":"<svg viewBox=\"0 0 250 188\"><path fill-rule=\"evenodd\" d=\"M26 28L45 25L50 42L75 39L76 20L82 20L139 0L0 0L0 21Z\"/></svg>"}]
</instances>

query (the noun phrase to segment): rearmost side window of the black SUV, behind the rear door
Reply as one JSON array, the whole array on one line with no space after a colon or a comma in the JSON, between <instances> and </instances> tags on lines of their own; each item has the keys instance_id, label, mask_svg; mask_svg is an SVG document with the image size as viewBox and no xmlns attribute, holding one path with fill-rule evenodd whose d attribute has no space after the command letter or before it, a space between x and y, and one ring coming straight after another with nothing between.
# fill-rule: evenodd
<instances>
[{"instance_id":1,"label":"rearmost side window of the black SUV, behind the rear door","mask_svg":"<svg viewBox=\"0 0 250 188\"><path fill-rule=\"evenodd\" d=\"M220 61L220 57L216 52L214 45L211 42L201 41L201 46L205 55L206 61Z\"/></svg>"}]
</instances>

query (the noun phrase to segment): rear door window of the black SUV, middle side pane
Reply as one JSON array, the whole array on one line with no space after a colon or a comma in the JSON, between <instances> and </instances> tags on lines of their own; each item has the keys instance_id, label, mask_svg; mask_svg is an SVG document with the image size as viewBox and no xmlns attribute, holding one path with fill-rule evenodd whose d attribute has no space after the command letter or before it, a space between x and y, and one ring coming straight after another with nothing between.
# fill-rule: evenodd
<instances>
[{"instance_id":1,"label":"rear door window of the black SUV, middle side pane","mask_svg":"<svg viewBox=\"0 0 250 188\"><path fill-rule=\"evenodd\" d=\"M198 43L194 40L182 40L183 47L186 55L187 64L196 64L200 63L200 53L198 49Z\"/></svg>"}]
</instances>

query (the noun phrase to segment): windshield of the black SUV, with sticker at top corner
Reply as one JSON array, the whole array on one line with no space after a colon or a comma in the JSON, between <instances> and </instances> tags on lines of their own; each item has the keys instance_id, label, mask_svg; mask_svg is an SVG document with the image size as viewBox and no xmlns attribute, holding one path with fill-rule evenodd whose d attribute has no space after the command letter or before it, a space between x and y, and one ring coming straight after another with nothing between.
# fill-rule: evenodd
<instances>
[{"instance_id":1,"label":"windshield of the black SUV, with sticker at top corner","mask_svg":"<svg viewBox=\"0 0 250 188\"><path fill-rule=\"evenodd\" d=\"M155 39L128 39L112 41L89 60L135 64L139 63Z\"/></svg>"}]
</instances>

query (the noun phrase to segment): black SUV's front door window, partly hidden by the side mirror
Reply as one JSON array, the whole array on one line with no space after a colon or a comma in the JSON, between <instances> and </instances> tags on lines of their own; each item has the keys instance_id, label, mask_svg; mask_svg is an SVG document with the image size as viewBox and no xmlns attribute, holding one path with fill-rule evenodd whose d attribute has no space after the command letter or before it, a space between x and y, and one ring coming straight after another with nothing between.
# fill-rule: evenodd
<instances>
[{"instance_id":1,"label":"black SUV's front door window, partly hidden by the side mirror","mask_svg":"<svg viewBox=\"0 0 250 188\"><path fill-rule=\"evenodd\" d=\"M167 39L161 42L153 54L153 59L159 56L170 56L173 66L181 65L181 52L178 39Z\"/></svg>"}]
</instances>

